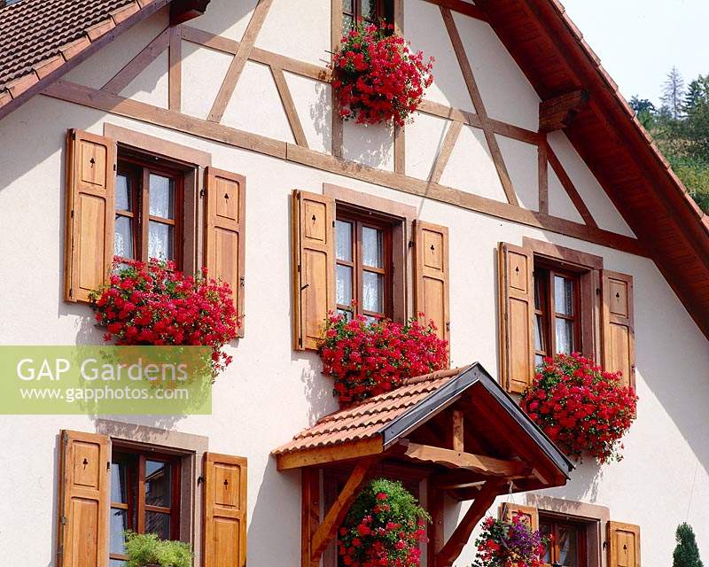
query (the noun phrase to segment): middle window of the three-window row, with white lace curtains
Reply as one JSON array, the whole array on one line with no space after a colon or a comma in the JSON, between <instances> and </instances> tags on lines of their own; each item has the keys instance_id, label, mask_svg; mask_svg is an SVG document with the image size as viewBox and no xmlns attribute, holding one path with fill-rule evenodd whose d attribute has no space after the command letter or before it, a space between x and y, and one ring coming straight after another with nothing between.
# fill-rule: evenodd
<instances>
[{"instance_id":1,"label":"middle window of the three-window row, with white lace curtains","mask_svg":"<svg viewBox=\"0 0 709 567\"><path fill-rule=\"evenodd\" d=\"M370 322L392 318L391 222L338 207L335 245L338 312Z\"/></svg>"}]
</instances>

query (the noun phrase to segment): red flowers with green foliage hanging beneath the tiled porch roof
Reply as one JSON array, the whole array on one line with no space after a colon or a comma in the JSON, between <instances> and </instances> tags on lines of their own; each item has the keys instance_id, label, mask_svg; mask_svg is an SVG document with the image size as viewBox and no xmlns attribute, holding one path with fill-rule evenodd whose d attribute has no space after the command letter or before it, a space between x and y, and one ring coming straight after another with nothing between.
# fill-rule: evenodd
<instances>
[{"instance_id":1,"label":"red flowers with green foliage hanging beneath the tiled porch roof","mask_svg":"<svg viewBox=\"0 0 709 567\"><path fill-rule=\"evenodd\" d=\"M350 567L418 567L429 521L401 482L375 478L339 528L339 555Z\"/></svg>"}]
</instances>

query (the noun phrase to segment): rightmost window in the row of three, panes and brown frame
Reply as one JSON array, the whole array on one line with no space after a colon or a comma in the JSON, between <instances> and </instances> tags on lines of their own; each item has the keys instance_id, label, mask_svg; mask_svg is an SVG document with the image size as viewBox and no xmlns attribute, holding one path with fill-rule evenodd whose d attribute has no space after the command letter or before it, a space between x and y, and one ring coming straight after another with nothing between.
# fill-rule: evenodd
<instances>
[{"instance_id":1,"label":"rightmost window in the row of three, panes and brown frame","mask_svg":"<svg viewBox=\"0 0 709 567\"><path fill-rule=\"evenodd\" d=\"M578 274L534 261L534 363L581 351Z\"/></svg>"}]
</instances>

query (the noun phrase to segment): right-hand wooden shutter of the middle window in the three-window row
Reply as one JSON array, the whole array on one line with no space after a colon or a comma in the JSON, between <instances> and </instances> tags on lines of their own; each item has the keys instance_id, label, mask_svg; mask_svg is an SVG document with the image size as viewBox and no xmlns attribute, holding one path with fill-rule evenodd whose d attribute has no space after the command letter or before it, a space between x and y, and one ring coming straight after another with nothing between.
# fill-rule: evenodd
<instances>
[{"instance_id":1,"label":"right-hand wooden shutter of the middle window in the three-window row","mask_svg":"<svg viewBox=\"0 0 709 567\"><path fill-rule=\"evenodd\" d=\"M414 221L414 311L438 327L438 336L450 335L448 307L448 229Z\"/></svg>"}]
</instances>

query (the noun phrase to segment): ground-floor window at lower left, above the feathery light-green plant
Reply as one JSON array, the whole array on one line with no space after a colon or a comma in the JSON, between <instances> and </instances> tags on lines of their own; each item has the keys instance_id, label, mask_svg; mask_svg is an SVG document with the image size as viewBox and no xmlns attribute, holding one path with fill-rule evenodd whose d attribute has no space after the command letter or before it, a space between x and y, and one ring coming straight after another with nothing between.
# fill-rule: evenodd
<instances>
[{"instance_id":1,"label":"ground-floor window at lower left, above the feathery light-green plant","mask_svg":"<svg viewBox=\"0 0 709 567\"><path fill-rule=\"evenodd\" d=\"M181 457L114 448L111 458L110 567L125 565L123 532L180 539Z\"/></svg>"}]
</instances>

